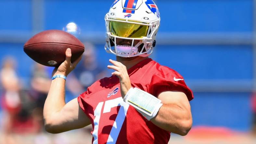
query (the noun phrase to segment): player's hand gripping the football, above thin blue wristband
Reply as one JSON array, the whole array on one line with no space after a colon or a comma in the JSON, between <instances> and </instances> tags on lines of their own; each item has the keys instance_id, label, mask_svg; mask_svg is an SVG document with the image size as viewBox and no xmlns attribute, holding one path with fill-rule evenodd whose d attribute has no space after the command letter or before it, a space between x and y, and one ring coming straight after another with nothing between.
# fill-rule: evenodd
<instances>
[{"instance_id":1,"label":"player's hand gripping the football, above thin blue wristband","mask_svg":"<svg viewBox=\"0 0 256 144\"><path fill-rule=\"evenodd\" d=\"M55 67L55 69L52 72L52 76L64 75L67 77L68 74L76 67L76 65L81 59L82 55L76 61L71 63L71 49L68 48L66 50L66 60L59 67Z\"/></svg>"}]
</instances>

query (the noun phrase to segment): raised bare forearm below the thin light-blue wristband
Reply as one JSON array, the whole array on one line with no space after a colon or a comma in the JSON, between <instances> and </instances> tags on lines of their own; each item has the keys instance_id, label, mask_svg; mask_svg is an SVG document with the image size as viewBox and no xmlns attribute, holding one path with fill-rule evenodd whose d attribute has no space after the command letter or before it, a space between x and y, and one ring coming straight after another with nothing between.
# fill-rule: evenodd
<instances>
[{"instance_id":1,"label":"raised bare forearm below the thin light-blue wristband","mask_svg":"<svg viewBox=\"0 0 256 144\"><path fill-rule=\"evenodd\" d=\"M54 117L65 105L65 79L56 78L52 80L44 105L45 126L51 125Z\"/></svg>"}]
</instances>

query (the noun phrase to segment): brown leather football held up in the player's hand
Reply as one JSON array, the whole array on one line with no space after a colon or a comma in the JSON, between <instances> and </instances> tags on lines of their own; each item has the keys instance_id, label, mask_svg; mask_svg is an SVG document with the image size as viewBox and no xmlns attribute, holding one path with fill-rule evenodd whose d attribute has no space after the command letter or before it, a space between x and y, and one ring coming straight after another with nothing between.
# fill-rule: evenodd
<instances>
[{"instance_id":1,"label":"brown leather football held up in the player's hand","mask_svg":"<svg viewBox=\"0 0 256 144\"><path fill-rule=\"evenodd\" d=\"M24 44L24 52L39 64L59 66L71 49L71 62L84 52L84 45L75 36L61 30L46 30L34 35Z\"/></svg>"}]
</instances>

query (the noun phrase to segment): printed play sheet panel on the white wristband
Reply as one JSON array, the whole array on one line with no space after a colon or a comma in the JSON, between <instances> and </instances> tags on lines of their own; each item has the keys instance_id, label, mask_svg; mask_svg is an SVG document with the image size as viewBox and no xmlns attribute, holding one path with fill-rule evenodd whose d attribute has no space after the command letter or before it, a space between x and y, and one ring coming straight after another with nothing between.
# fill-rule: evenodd
<instances>
[{"instance_id":1,"label":"printed play sheet panel on the white wristband","mask_svg":"<svg viewBox=\"0 0 256 144\"><path fill-rule=\"evenodd\" d=\"M152 116L156 105L161 103L161 100L143 90L136 89L130 94L127 102L145 114Z\"/></svg>"}]
</instances>

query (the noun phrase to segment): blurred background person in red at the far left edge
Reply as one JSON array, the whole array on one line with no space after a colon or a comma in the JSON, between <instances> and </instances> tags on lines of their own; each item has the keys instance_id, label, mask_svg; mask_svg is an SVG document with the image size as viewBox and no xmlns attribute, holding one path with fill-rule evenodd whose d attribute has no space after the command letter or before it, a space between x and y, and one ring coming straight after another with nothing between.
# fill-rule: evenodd
<instances>
[{"instance_id":1,"label":"blurred background person in red at the far left edge","mask_svg":"<svg viewBox=\"0 0 256 144\"><path fill-rule=\"evenodd\" d=\"M3 88L1 94L1 105L4 109L3 121L3 133L5 143L14 143L11 133L15 127L15 120L17 114L21 109L20 99L20 83L16 74L16 61L13 57L4 58L2 68L0 70L0 80Z\"/></svg>"}]
</instances>

